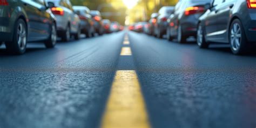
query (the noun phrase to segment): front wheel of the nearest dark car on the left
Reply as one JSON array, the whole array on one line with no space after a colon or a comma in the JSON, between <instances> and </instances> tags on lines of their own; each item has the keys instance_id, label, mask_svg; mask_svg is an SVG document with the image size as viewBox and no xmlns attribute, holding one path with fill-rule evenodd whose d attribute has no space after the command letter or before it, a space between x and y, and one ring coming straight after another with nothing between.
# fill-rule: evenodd
<instances>
[{"instance_id":1,"label":"front wheel of the nearest dark car on the left","mask_svg":"<svg viewBox=\"0 0 256 128\"><path fill-rule=\"evenodd\" d=\"M56 31L56 25L52 24L51 27L51 35L47 41L44 42L46 48L54 48L57 42L57 31Z\"/></svg>"}]
</instances>

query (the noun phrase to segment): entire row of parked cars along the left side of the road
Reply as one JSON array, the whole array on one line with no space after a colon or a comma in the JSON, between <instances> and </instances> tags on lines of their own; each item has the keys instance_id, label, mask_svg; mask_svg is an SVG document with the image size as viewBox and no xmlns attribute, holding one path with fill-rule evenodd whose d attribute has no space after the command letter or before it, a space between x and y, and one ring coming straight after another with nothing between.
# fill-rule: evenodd
<instances>
[{"instance_id":1,"label":"entire row of parked cars along the left side of the road","mask_svg":"<svg viewBox=\"0 0 256 128\"><path fill-rule=\"evenodd\" d=\"M69 0L0 0L0 45L22 54L28 42L53 48L57 38L68 42L83 33L87 38L122 30L117 22L102 19L99 11L72 6Z\"/></svg>"}]
</instances>

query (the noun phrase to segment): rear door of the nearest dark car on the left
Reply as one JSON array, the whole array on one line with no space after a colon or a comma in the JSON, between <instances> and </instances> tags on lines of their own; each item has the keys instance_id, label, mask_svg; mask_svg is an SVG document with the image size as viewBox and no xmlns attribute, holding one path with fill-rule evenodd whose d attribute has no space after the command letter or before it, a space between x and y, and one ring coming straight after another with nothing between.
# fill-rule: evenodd
<instances>
[{"instance_id":1,"label":"rear door of the nearest dark car on the left","mask_svg":"<svg viewBox=\"0 0 256 128\"><path fill-rule=\"evenodd\" d=\"M28 40L29 41L37 41L41 36L40 27L38 27L42 23L42 15L41 8L42 6L36 3L35 1L22 1L24 5L24 9L28 15Z\"/></svg>"}]
</instances>

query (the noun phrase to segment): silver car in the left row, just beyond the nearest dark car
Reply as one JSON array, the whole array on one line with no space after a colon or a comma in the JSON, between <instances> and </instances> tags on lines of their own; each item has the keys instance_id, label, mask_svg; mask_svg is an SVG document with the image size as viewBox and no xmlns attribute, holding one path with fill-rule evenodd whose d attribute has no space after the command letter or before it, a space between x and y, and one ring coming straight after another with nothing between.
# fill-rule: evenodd
<instances>
[{"instance_id":1,"label":"silver car in the left row, just beyond the nearest dark car","mask_svg":"<svg viewBox=\"0 0 256 128\"><path fill-rule=\"evenodd\" d=\"M71 36L80 38L80 19L73 11L69 0L47 0L54 3L52 13L57 18L57 33L62 41L68 42Z\"/></svg>"}]
</instances>

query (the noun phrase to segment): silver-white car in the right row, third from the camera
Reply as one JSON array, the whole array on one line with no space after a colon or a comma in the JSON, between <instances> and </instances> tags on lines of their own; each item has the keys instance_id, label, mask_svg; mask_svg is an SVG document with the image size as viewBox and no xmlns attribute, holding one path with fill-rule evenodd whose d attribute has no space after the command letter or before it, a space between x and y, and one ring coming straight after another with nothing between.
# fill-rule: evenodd
<instances>
[{"instance_id":1,"label":"silver-white car in the right row, third from the camera","mask_svg":"<svg viewBox=\"0 0 256 128\"><path fill-rule=\"evenodd\" d=\"M157 17L156 27L154 28L154 35L158 38L163 38L166 34L166 28L168 26L167 19L173 14L174 6L163 6Z\"/></svg>"}]
</instances>

